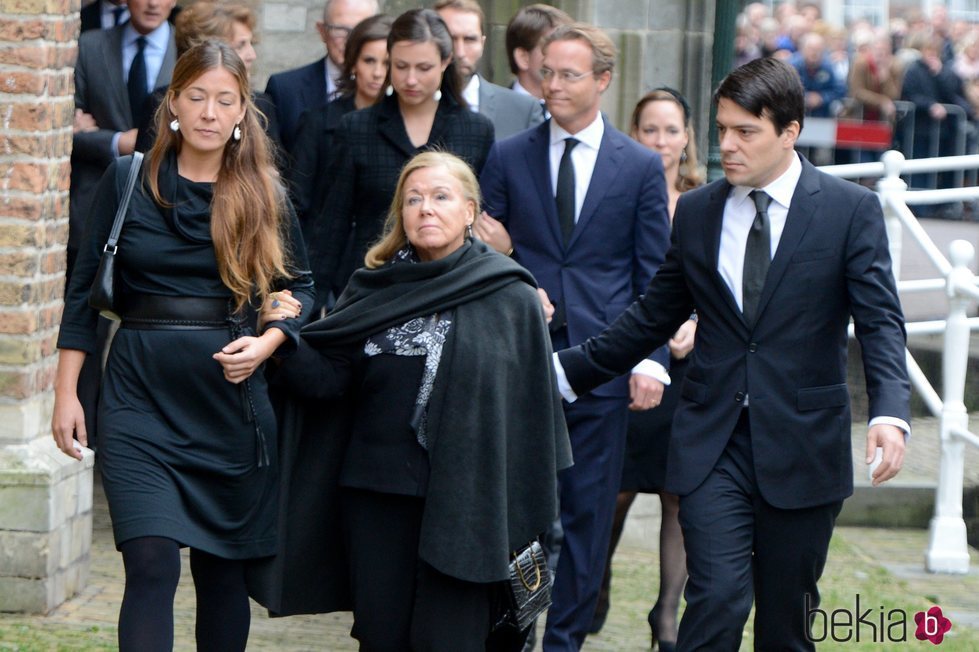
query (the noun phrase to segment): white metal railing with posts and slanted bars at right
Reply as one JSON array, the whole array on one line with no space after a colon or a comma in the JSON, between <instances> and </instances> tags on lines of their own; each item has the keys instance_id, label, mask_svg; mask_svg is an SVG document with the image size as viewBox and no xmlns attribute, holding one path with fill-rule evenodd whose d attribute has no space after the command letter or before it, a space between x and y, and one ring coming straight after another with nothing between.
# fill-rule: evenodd
<instances>
[{"instance_id":1,"label":"white metal railing with posts and slanted bars at right","mask_svg":"<svg viewBox=\"0 0 979 652\"><path fill-rule=\"evenodd\" d=\"M897 151L885 152L879 163L820 168L843 178L880 177L877 193L884 210L898 291L908 293L944 290L948 299L948 316L945 320L912 322L907 325L909 333L944 333L944 396L938 395L914 357L910 352L907 353L911 383L924 399L928 410L939 418L940 424L938 489L928 549L925 551L925 568L933 573L964 574L969 571L969 547L965 521L962 518L965 446L971 444L979 447L979 436L969 431L969 414L965 408L965 373L969 359L969 336L972 331L979 331L979 318L970 319L966 312L972 301L979 300L979 277L969 269L969 263L975 257L975 247L965 240L955 240L949 246L949 255L946 258L908 206L952 201L979 202L979 187L909 191L901 175L976 168L979 168L979 156L905 160L904 155ZM934 265L938 278L901 281L904 230L907 230L911 239L921 247Z\"/></svg>"}]
</instances>

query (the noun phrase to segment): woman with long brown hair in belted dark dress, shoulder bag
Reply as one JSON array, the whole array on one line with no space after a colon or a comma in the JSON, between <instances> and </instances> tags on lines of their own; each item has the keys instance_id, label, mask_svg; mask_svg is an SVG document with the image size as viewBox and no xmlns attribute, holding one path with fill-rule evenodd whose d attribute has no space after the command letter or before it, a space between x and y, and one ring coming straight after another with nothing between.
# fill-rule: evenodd
<instances>
[{"instance_id":1,"label":"woman with long brown hair in belted dark dress, shoulder bag","mask_svg":"<svg viewBox=\"0 0 979 652\"><path fill-rule=\"evenodd\" d=\"M250 324L276 290L307 305L313 294L269 148L234 50L207 41L181 56L119 239L122 321L99 406L102 480L126 572L121 650L172 649L181 547L191 549L198 649L243 650L244 562L275 549L276 422L260 370L295 346L303 319L261 334ZM87 443L78 370L97 318L88 289L131 165L120 159L102 178L65 297L52 433L78 459Z\"/></svg>"}]
</instances>

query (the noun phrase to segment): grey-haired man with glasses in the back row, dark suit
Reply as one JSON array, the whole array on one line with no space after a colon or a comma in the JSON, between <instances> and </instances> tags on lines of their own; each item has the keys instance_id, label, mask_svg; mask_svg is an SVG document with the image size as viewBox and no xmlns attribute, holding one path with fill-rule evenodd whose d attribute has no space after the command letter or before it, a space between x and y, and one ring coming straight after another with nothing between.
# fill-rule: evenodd
<instances>
[{"instance_id":1,"label":"grey-haired man with glasses in the back row, dark suit","mask_svg":"<svg viewBox=\"0 0 979 652\"><path fill-rule=\"evenodd\" d=\"M282 146L286 151L292 151L303 112L335 98L337 79L343 68L343 50L350 32L357 23L378 11L377 0L326 0L323 20L316 23L326 45L326 56L269 77L265 92L275 104Z\"/></svg>"}]
</instances>

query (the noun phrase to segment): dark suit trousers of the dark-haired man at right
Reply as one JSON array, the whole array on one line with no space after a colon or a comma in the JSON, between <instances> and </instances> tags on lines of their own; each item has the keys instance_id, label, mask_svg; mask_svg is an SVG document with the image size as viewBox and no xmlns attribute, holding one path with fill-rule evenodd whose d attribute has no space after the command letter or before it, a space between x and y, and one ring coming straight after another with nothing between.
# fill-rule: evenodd
<instances>
[{"instance_id":1,"label":"dark suit trousers of the dark-haired man at right","mask_svg":"<svg viewBox=\"0 0 979 652\"><path fill-rule=\"evenodd\" d=\"M842 501L779 509L755 478L747 410L714 470L680 497L680 526L690 578L677 650L736 651L755 602L756 650L815 650L807 637L808 604Z\"/></svg>"}]
</instances>

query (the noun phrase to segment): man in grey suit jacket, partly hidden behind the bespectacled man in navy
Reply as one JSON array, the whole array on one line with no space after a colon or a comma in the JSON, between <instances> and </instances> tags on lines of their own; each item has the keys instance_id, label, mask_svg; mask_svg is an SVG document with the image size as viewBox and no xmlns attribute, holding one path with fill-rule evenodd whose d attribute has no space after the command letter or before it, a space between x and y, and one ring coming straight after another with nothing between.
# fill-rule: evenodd
<instances>
[{"instance_id":1,"label":"man in grey suit jacket, partly hidden behind the bespectacled man in navy","mask_svg":"<svg viewBox=\"0 0 979 652\"><path fill-rule=\"evenodd\" d=\"M454 60L462 74L462 96L469 108L493 123L496 139L539 125L544 121L540 103L483 79L476 72L483 58L483 9L476 0L439 0L432 7L452 35Z\"/></svg>"}]
</instances>

